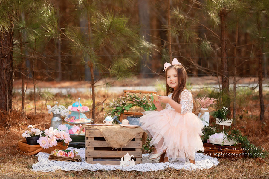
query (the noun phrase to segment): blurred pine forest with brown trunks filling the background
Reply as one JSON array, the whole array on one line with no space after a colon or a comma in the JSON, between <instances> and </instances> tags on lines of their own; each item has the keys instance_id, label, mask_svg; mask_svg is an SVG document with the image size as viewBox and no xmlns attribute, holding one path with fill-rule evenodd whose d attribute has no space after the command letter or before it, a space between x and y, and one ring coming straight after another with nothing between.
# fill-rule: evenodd
<instances>
[{"instance_id":1,"label":"blurred pine forest with brown trunks filling the background","mask_svg":"<svg viewBox=\"0 0 269 179\"><path fill-rule=\"evenodd\" d=\"M25 80L33 81L34 90L38 81L85 80L91 81L94 118L97 81L156 77L163 63L175 57L189 76L217 76L221 91L228 95L233 76L234 97L236 76L258 76L262 121L268 4L268 0L2 1L0 109L12 109L15 79L22 79L22 110ZM225 105L230 106L228 101Z\"/></svg>"}]
</instances>

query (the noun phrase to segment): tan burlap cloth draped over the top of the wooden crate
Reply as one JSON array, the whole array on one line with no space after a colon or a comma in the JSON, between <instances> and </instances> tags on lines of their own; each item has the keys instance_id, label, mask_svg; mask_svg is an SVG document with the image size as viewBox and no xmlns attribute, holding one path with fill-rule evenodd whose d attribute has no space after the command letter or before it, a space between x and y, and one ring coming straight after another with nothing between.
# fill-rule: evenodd
<instances>
[{"instance_id":1,"label":"tan burlap cloth draped over the top of the wooden crate","mask_svg":"<svg viewBox=\"0 0 269 179\"><path fill-rule=\"evenodd\" d=\"M83 126L82 126L83 127ZM122 148L126 146L138 133L142 133L142 143L146 143L148 134L141 128L126 128L120 125L114 126L87 126L87 128L97 128L106 142L112 148ZM87 130L87 129L85 129Z\"/></svg>"}]
</instances>

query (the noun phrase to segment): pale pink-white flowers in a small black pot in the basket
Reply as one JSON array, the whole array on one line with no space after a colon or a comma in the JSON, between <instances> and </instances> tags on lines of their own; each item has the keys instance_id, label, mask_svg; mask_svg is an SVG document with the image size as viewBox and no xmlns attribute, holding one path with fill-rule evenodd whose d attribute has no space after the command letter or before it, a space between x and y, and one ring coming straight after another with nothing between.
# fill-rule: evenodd
<instances>
[{"instance_id":1,"label":"pale pink-white flowers in a small black pot in the basket","mask_svg":"<svg viewBox=\"0 0 269 179\"><path fill-rule=\"evenodd\" d=\"M43 131L33 128L32 125L29 125L28 128L30 130L26 130L22 133L22 137L25 137L28 145L38 145L37 140L41 137Z\"/></svg>"}]
</instances>

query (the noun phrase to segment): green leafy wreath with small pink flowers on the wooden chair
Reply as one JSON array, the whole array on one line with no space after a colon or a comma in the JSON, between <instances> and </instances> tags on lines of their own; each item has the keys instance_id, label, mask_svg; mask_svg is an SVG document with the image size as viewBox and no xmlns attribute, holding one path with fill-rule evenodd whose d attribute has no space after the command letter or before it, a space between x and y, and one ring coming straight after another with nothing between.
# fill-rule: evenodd
<instances>
[{"instance_id":1,"label":"green leafy wreath with small pink flowers on the wooden chair","mask_svg":"<svg viewBox=\"0 0 269 179\"><path fill-rule=\"evenodd\" d=\"M145 111L155 110L156 107L153 104L153 96L152 95L142 95L141 92L139 95L130 92L126 93L126 96L119 97L117 100L112 99L113 102L108 103L107 115L109 116L117 116L117 119L120 117L120 114L124 112L124 110L129 111L131 107L137 106L143 108ZM150 102L149 102L150 101Z\"/></svg>"}]
</instances>

